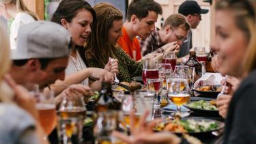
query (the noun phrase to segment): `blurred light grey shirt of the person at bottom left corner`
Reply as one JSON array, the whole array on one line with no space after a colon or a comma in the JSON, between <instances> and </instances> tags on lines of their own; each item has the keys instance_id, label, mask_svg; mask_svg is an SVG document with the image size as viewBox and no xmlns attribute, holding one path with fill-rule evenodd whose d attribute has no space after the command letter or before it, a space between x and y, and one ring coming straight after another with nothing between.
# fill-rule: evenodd
<instances>
[{"instance_id":1,"label":"blurred light grey shirt of the person at bottom left corner","mask_svg":"<svg viewBox=\"0 0 256 144\"><path fill-rule=\"evenodd\" d=\"M0 103L0 143L40 143L33 117L15 104Z\"/></svg>"}]
</instances>

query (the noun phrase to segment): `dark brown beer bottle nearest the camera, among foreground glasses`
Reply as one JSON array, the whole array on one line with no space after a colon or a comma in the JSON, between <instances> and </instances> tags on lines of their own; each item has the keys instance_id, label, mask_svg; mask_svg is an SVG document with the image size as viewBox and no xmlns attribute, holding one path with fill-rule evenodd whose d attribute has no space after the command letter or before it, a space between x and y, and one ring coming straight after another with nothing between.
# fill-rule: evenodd
<instances>
[{"instance_id":1,"label":"dark brown beer bottle nearest the camera, among foreground glasses","mask_svg":"<svg viewBox=\"0 0 256 144\"><path fill-rule=\"evenodd\" d=\"M102 83L100 98L96 104L96 111L120 110L121 103L113 97L111 83Z\"/></svg>"}]
</instances>

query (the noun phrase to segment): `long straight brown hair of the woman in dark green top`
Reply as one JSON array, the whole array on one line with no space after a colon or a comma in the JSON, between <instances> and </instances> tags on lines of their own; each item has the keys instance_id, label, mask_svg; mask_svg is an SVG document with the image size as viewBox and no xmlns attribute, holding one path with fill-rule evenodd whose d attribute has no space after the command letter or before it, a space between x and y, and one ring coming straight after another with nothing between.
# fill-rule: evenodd
<instances>
[{"instance_id":1,"label":"long straight brown hair of the woman in dark green top","mask_svg":"<svg viewBox=\"0 0 256 144\"><path fill-rule=\"evenodd\" d=\"M109 29L114 20L122 20L123 14L109 3L94 6L96 21L92 26L85 49L87 55L96 58L100 65L105 66L109 57L115 58L115 45L109 43Z\"/></svg>"}]
</instances>

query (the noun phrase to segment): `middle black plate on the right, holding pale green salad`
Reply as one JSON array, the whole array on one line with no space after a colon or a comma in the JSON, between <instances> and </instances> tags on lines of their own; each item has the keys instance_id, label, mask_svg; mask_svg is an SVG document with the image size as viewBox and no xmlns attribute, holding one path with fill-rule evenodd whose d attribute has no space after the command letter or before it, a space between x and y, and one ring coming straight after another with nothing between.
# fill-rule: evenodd
<instances>
[{"instance_id":1,"label":"middle black plate on the right, holding pale green salad","mask_svg":"<svg viewBox=\"0 0 256 144\"><path fill-rule=\"evenodd\" d=\"M216 107L216 100L197 100L188 102L184 106L191 111L201 115L219 116L218 109Z\"/></svg>"}]
</instances>

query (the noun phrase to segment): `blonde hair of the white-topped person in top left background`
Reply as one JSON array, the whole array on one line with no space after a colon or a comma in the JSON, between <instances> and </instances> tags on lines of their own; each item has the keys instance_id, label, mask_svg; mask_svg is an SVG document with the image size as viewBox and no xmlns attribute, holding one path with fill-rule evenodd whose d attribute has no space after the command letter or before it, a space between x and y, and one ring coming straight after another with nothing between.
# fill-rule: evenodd
<instances>
[{"instance_id":1,"label":"blonde hair of the white-topped person in top left background","mask_svg":"<svg viewBox=\"0 0 256 144\"><path fill-rule=\"evenodd\" d=\"M13 3L14 5L16 5L16 9L18 10L18 12L26 12L27 14L32 16L35 20L38 20L37 14L29 10L27 6L24 4L23 0L0 0L0 3L1 4Z\"/></svg>"}]
</instances>

